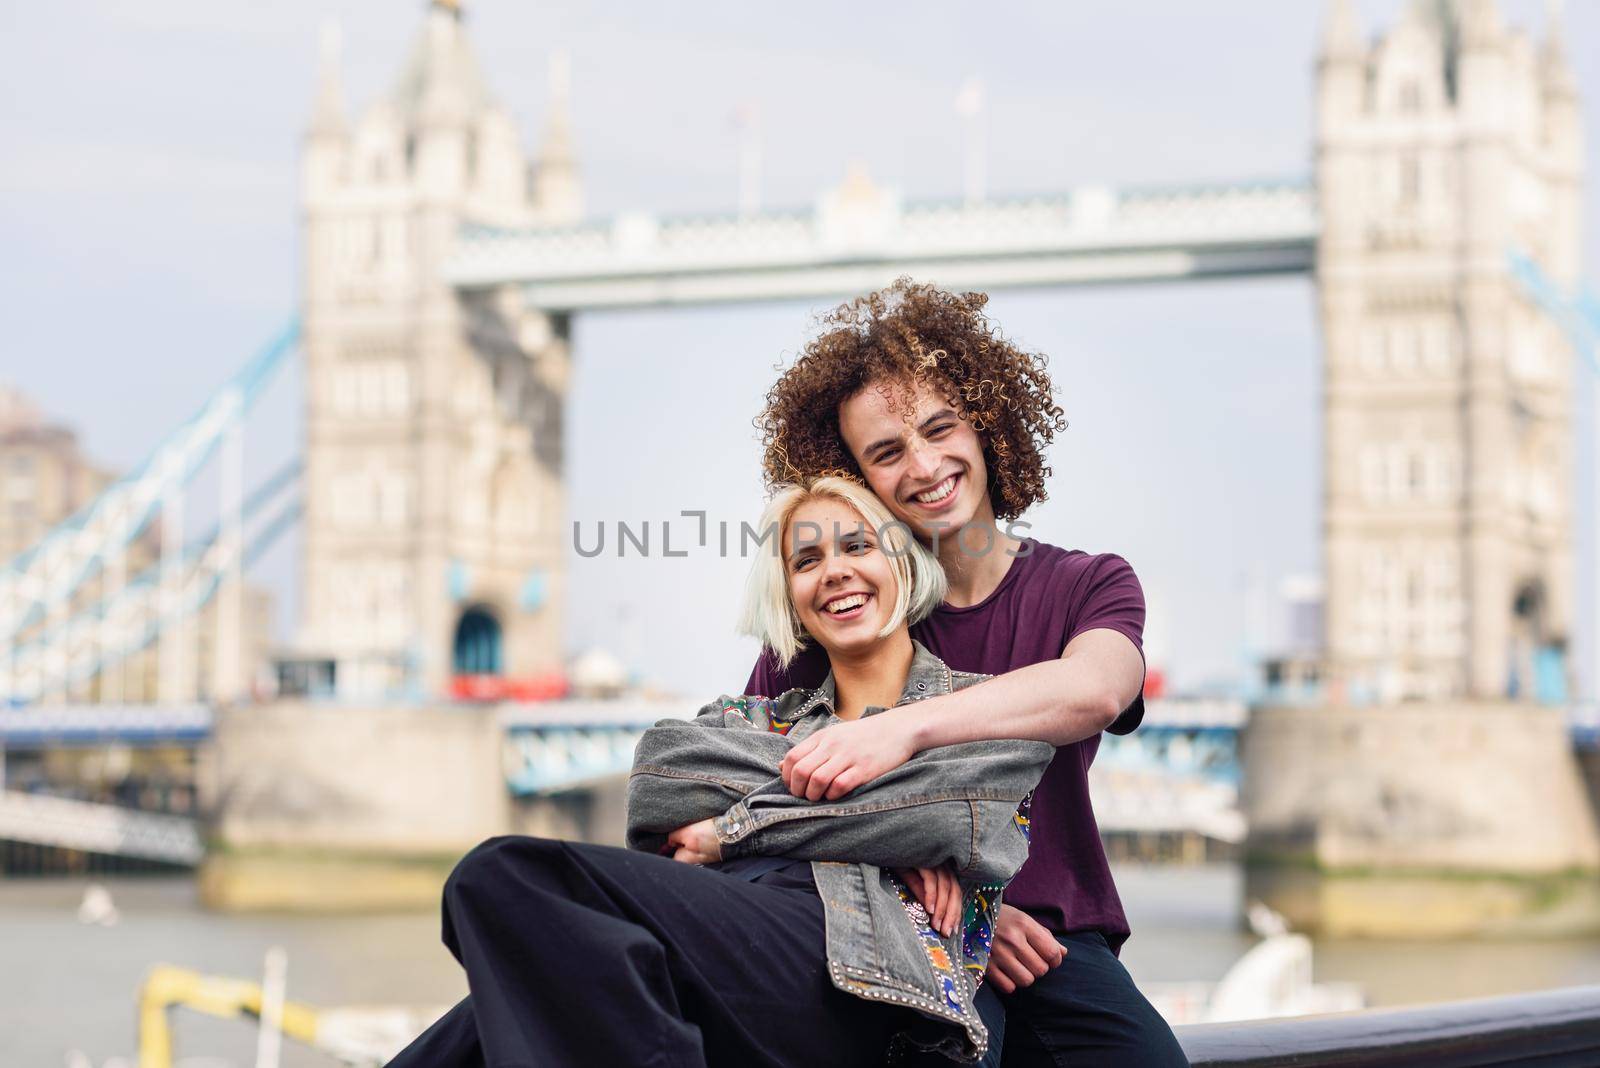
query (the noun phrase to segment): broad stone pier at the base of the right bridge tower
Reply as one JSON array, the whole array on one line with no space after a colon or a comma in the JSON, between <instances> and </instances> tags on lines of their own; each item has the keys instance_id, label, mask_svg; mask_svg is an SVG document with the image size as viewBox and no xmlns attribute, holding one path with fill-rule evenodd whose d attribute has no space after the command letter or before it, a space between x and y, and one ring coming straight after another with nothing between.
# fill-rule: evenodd
<instances>
[{"instance_id":1,"label":"broad stone pier at the base of the right bridge tower","mask_svg":"<svg viewBox=\"0 0 1600 1068\"><path fill-rule=\"evenodd\" d=\"M1259 708L1246 897L1350 937L1600 929L1600 830L1557 708Z\"/></svg>"}]
</instances>

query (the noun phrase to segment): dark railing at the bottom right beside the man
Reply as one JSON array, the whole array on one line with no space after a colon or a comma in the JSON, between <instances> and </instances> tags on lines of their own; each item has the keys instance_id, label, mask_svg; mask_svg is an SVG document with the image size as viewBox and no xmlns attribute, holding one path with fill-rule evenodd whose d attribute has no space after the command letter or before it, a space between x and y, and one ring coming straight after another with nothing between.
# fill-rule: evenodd
<instances>
[{"instance_id":1,"label":"dark railing at the bottom right beside the man","mask_svg":"<svg viewBox=\"0 0 1600 1068\"><path fill-rule=\"evenodd\" d=\"M1600 1065L1600 986L1178 1028L1195 1068Z\"/></svg>"}]
</instances>

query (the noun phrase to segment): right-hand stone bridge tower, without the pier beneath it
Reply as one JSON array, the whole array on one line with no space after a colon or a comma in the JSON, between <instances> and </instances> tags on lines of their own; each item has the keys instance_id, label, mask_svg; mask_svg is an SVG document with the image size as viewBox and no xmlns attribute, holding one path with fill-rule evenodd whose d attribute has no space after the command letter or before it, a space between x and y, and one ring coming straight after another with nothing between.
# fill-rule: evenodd
<instances>
[{"instance_id":1,"label":"right-hand stone bridge tower, without the pier beneath it","mask_svg":"<svg viewBox=\"0 0 1600 1068\"><path fill-rule=\"evenodd\" d=\"M1566 694L1573 381L1507 253L1579 272L1582 130L1554 18L1330 5L1317 75L1326 673L1334 702Z\"/></svg>"}]
</instances>

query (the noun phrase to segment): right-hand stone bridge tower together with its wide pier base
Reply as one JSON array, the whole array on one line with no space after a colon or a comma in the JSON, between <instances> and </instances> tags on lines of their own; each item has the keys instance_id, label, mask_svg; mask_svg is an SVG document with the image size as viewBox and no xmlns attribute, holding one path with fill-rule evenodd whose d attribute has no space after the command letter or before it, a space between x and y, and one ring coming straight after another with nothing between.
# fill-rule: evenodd
<instances>
[{"instance_id":1,"label":"right-hand stone bridge tower together with its wide pier base","mask_svg":"<svg viewBox=\"0 0 1600 1068\"><path fill-rule=\"evenodd\" d=\"M1510 272L1578 273L1562 29L1414 0L1366 43L1336 0L1317 90L1330 686L1251 713L1246 900L1331 935L1584 929L1573 360Z\"/></svg>"}]
</instances>

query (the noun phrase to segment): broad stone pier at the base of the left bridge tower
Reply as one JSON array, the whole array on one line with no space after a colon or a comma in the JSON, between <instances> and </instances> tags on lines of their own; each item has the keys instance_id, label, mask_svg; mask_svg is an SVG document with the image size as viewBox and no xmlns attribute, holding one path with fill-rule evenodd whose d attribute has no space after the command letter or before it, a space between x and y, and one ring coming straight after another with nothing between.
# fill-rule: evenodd
<instances>
[{"instance_id":1,"label":"broad stone pier at the base of the left bridge tower","mask_svg":"<svg viewBox=\"0 0 1600 1068\"><path fill-rule=\"evenodd\" d=\"M438 908L450 870L485 838L622 844L626 775L517 799L506 748L486 705L224 710L198 771L202 900L230 911Z\"/></svg>"}]
</instances>

